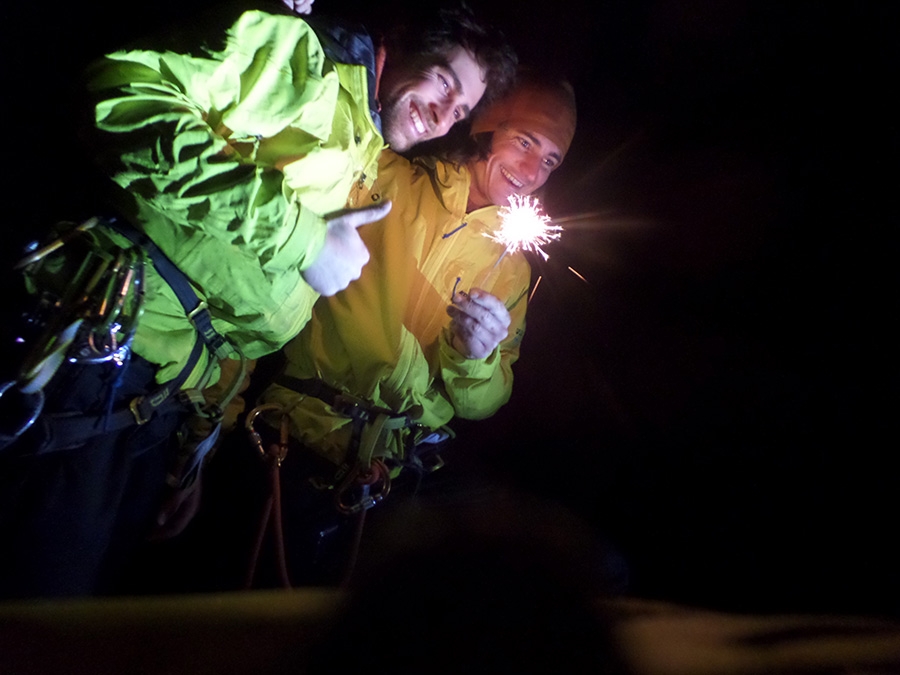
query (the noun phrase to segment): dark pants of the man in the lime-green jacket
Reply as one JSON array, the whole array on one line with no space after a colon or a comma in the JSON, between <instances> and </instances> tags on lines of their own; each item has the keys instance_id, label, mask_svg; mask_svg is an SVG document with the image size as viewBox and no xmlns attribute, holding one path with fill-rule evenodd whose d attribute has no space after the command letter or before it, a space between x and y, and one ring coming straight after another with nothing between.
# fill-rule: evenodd
<instances>
[{"instance_id":1,"label":"dark pants of the man in the lime-green jacket","mask_svg":"<svg viewBox=\"0 0 900 675\"><path fill-rule=\"evenodd\" d=\"M153 387L155 367L133 357L65 365L45 411L96 414ZM120 568L149 532L165 485L181 413L33 454L39 425L0 452L0 597L115 592Z\"/></svg>"}]
</instances>

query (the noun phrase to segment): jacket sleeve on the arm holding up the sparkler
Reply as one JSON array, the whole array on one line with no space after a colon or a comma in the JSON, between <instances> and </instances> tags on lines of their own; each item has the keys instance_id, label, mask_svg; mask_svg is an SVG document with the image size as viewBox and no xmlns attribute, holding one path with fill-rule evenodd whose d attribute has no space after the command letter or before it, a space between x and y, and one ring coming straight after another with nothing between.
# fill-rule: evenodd
<instances>
[{"instance_id":1,"label":"jacket sleeve on the arm holding up the sparkler","mask_svg":"<svg viewBox=\"0 0 900 675\"><path fill-rule=\"evenodd\" d=\"M450 346L449 329L441 332L441 377L457 416L463 419L490 417L512 395L512 366L519 359L519 347L525 334L528 281L526 274L514 304L509 308L509 334L487 358L465 358Z\"/></svg>"}]
</instances>

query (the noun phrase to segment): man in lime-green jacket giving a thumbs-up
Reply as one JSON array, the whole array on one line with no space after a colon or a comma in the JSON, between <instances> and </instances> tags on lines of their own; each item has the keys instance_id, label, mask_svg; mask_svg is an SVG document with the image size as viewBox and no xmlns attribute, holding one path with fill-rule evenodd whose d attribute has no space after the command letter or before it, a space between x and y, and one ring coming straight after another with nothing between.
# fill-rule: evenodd
<instances>
[{"instance_id":1,"label":"man in lime-green jacket giving a thumbs-up","mask_svg":"<svg viewBox=\"0 0 900 675\"><path fill-rule=\"evenodd\" d=\"M4 385L34 414L0 430L0 448L12 446L0 467L0 597L115 587L166 483L177 494L196 484L214 435L192 439L204 425L182 425L188 411L217 421L223 402L199 392L219 362L277 350L319 294L359 276L369 254L356 228L390 207L340 210L375 180L385 143L406 150L445 134L512 74L508 47L467 12L390 38L376 48L341 26L252 11L224 44L122 51L94 67L93 140L125 219L74 238L107 270L99 288L128 287L112 304L129 320L105 324L100 340L74 321L74 337L51 339L47 358ZM122 256L135 250L144 264ZM73 251L33 256L27 276L45 300L68 292ZM98 342L102 363L55 373ZM188 451L173 468L179 428Z\"/></svg>"}]
</instances>

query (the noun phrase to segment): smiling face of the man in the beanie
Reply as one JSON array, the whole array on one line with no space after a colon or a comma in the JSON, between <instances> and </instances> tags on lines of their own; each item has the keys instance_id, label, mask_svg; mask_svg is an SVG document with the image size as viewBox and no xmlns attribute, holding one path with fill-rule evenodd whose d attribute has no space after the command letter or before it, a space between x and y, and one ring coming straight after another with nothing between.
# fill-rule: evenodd
<instances>
[{"instance_id":1,"label":"smiling face of the man in the beanie","mask_svg":"<svg viewBox=\"0 0 900 675\"><path fill-rule=\"evenodd\" d=\"M506 206L510 196L529 195L562 162L559 146L537 131L504 126L494 132L491 154L469 163L469 210Z\"/></svg>"}]
</instances>

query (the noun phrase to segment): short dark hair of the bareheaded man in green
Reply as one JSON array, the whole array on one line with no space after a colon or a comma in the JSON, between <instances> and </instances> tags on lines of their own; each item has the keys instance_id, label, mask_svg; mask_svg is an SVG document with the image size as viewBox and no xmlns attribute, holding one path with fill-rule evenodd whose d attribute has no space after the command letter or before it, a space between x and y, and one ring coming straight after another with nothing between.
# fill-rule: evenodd
<instances>
[{"instance_id":1,"label":"short dark hair of the bareheaded man in green","mask_svg":"<svg viewBox=\"0 0 900 675\"><path fill-rule=\"evenodd\" d=\"M516 77L518 58L506 36L493 25L477 18L472 9L459 2L434 10L420 3L419 11L406 10L403 18L383 31L388 60L409 64L445 60L457 47L470 52L485 71L486 90L477 107L505 94Z\"/></svg>"}]
</instances>

